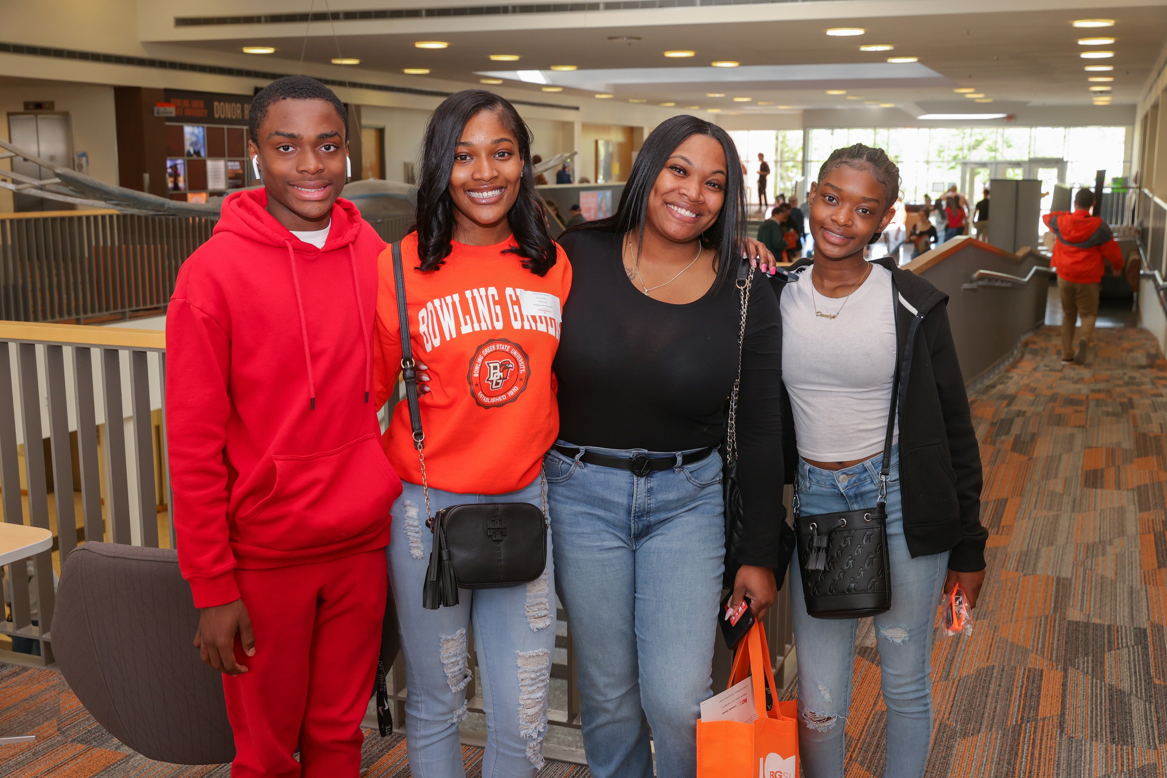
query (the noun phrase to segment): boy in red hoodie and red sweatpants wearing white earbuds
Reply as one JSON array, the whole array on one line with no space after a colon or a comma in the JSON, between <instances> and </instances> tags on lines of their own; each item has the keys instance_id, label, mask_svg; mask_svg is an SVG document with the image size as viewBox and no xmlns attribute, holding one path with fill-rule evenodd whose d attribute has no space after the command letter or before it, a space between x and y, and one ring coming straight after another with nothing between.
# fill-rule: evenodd
<instances>
[{"instance_id":1,"label":"boy in red hoodie and red sweatpants wearing white earbuds","mask_svg":"<svg viewBox=\"0 0 1167 778\"><path fill-rule=\"evenodd\" d=\"M356 778L401 492L370 398L385 244L337 199L331 90L281 78L250 125L264 189L223 202L167 313L179 562L224 673L231 775Z\"/></svg>"}]
</instances>

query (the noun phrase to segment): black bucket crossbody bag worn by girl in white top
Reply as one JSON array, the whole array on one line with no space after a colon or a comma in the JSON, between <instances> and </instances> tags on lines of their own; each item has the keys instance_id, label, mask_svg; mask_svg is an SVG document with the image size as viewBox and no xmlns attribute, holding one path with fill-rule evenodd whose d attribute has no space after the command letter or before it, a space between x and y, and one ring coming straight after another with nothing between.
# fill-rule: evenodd
<instances>
[{"instance_id":1,"label":"black bucket crossbody bag worn by girl in white top","mask_svg":"<svg viewBox=\"0 0 1167 778\"><path fill-rule=\"evenodd\" d=\"M892 310L897 294L892 279ZM887 551L887 482L892 476L892 436L900 395L900 364L892 378L879 498L873 507L801 516L795 478L795 532L798 573L806 612L816 618L862 618L892 608L892 568Z\"/></svg>"}]
</instances>

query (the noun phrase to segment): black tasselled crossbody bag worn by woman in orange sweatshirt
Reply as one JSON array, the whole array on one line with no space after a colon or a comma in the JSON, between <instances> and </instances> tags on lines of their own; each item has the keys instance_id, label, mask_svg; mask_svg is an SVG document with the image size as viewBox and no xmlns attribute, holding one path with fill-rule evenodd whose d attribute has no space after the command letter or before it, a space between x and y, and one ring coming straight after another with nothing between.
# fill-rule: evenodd
<instances>
[{"instance_id":1,"label":"black tasselled crossbody bag worn by woman in orange sweatshirt","mask_svg":"<svg viewBox=\"0 0 1167 778\"><path fill-rule=\"evenodd\" d=\"M401 330L401 376L413 428L413 446L421 464L421 490L426 498L426 526L433 531L433 551L421 591L429 610L457 604L457 590L512 587L534 581L547 567L547 479L543 482L543 510L530 503L470 503L450 505L432 514L426 481L425 432L418 406L410 315L405 300L401 245L393 244L393 280L397 283L397 318Z\"/></svg>"}]
</instances>

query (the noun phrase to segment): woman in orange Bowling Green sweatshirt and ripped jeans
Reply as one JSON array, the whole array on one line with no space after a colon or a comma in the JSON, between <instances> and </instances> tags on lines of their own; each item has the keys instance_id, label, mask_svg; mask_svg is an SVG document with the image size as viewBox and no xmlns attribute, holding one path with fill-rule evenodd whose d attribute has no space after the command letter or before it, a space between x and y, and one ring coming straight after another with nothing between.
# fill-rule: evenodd
<instances>
[{"instance_id":1,"label":"woman in orange Bowling Green sweatshirt and ripped jeans","mask_svg":"<svg viewBox=\"0 0 1167 778\"><path fill-rule=\"evenodd\" d=\"M547 567L534 581L459 589L457 604L429 610L421 600L433 548L426 520L468 503L545 507L540 464L559 429L551 364L572 271L547 233L531 132L510 103L477 89L452 94L431 115L421 148L415 230L400 246L404 289L393 278L392 248L378 260L375 359L383 405L396 397L400 374L401 294L413 355L426 363L418 398L425 469L406 401L383 437L405 482L393 503L389 574L408 679L410 772L464 775L459 724L475 696L473 623L487 719L482 775L534 778L555 647L551 535Z\"/></svg>"}]
</instances>

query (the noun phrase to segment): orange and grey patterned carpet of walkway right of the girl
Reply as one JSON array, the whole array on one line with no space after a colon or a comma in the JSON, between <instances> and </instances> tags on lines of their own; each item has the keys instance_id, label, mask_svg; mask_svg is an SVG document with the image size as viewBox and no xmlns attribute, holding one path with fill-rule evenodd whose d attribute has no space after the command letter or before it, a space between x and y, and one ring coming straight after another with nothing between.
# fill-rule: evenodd
<instances>
[{"instance_id":1,"label":"orange and grey patterned carpet of walkway right of the girl","mask_svg":"<svg viewBox=\"0 0 1167 778\"><path fill-rule=\"evenodd\" d=\"M1167 363L1098 330L1063 367L1043 328L972 398L988 574L972 637L937 637L929 778L1151 778L1167 763ZM881 776L868 619L848 778Z\"/></svg>"}]
</instances>

